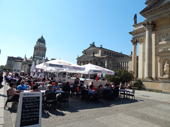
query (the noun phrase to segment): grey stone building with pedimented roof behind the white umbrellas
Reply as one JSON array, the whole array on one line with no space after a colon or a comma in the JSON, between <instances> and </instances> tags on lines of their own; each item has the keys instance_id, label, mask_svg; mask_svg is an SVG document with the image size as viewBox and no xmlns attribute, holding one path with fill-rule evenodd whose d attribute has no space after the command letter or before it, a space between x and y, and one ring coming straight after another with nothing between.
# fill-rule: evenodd
<instances>
[{"instance_id":1,"label":"grey stone building with pedimented roof behind the white umbrellas","mask_svg":"<svg viewBox=\"0 0 170 127\"><path fill-rule=\"evenodd\" d=\"M106 48L96 47L94 43L90 47L82 51L82 56L77 58L78 65L94 64L110 70L126 69L131 70L131 55L118 53Z\"/></svg>"}]
</instances>

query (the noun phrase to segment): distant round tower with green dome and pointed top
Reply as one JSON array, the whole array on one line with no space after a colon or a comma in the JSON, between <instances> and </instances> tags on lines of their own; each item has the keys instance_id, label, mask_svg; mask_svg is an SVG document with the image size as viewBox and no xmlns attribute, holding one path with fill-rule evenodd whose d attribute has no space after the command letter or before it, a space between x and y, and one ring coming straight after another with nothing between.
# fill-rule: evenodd
<instances>
[{"instance_id":1,"label":"distant round tower with green dome and pointed top","mask_svg":"<svg viewBox=\"0 0 170 127\"><path fill-rule=\"evenodd\" d=\"M33 54L33 60L42 60L43 57L45 58L45 53L46 53L46 44L45 44L45 39L43 35L38 38L36 45L34 46L34 54Z\"/></svg>"}]
</instances>

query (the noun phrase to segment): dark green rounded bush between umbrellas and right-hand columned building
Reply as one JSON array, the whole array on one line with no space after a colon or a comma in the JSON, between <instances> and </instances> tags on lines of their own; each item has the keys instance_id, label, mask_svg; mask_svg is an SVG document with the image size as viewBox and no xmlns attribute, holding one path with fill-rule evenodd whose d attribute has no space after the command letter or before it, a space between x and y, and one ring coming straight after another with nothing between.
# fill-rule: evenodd
<instances>
[{"instance_id":1,"label":"dark green rounded bush between umbrellas and right-hand columned building","mask_svg":"<svg viewBox=\"0 0 170 127\"><path fill-rule=\"evenodd\" d=\"M106 75L106 79L109 82L114 82L114 84L119 84L122 82L123 84L125 82L131 82L134 79L134 72L133 71L127 71L127 70L115 70L115 75Z\"/></svg>"}]
</instances>

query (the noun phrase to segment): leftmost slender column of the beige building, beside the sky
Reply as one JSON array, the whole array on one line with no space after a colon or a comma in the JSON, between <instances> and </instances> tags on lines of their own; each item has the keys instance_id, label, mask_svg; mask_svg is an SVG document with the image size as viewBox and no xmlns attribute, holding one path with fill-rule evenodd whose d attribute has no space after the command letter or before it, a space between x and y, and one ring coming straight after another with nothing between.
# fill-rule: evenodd
<instances>
[{"instance_id":1,"label":"leftmost slender column of the beige building, beside the sky","mask_svg":"<svg viewBox=\"0 0 170 127\"><path fill-rule=\"evenodd\" d=\"M136 45L137 42L135 42L134 40L132 40L132 44L133 44L133 52L132 52L132 71L134 72L134 78L137 78L136 75Z\"/></svg>"}]
</instances>

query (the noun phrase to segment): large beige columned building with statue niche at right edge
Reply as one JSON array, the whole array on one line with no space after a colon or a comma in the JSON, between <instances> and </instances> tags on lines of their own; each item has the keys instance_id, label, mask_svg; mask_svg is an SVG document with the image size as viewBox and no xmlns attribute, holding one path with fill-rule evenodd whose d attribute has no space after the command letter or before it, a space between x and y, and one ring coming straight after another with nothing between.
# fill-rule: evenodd
<instances>
[{"instance_id":1,"label":"large beige columned building with statue niche at right edge","mask_svg":"<svg viewBox=\"0 0 170 127\"><path fill-rule=\"evenodd\" d=\"M135 15L133 31L130 32L133 36L132 70L136 78L144 81L146 88L170 92L170 84L162 83L170 82L170 0L146 0L145 4L140 12L145 21L137 23Z\"/></svg>"}]
</instances>

